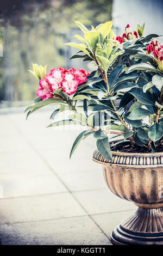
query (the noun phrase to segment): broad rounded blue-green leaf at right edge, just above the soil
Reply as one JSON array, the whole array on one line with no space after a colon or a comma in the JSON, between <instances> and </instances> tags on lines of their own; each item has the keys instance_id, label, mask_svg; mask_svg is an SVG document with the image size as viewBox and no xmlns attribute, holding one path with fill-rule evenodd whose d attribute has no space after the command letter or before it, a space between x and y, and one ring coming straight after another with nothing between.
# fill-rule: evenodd
<instances>
[{"instance_id":1,"label":"broad rounded blue-green leaf at right edge, just above the soil","mask_svg":"<svg viewBox=\"0 0 163 256\"><path fill-rule=\"evenodd\" d=\"M163 125L160 123L154 123L148 129L148 136L152 141L158 141L163 136Z\"/></svg>"}]
</instances>

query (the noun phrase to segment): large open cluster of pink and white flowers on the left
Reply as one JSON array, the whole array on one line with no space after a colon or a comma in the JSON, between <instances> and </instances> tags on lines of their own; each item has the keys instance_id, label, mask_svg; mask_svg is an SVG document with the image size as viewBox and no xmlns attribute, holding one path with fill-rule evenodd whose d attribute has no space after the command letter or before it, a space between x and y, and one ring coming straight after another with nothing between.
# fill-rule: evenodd
<instances>
[{"instance_id":1,"label":"large open cluster of pink and white flowers on the left","mask_svg":"<svg viewBox=\"0 0 163 256\"><path fill-rule=\"evenodd\" d=\"M42 97L42 100L53 97L55 90L62 90L71 95L76 92L79 84L86 82L86 76L90 75L84 69L52 69L51 72L40 80L40 88L37 90L37 96Z\"/></svg>"}]
</instances>

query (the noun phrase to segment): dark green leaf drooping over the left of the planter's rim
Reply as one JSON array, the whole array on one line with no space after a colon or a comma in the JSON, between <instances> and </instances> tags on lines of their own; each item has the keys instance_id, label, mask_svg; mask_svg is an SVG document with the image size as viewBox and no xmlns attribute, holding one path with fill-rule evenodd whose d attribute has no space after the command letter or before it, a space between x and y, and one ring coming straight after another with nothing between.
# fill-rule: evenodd
<instances>
[{"instance_id":1,"label":"dark green leaf drooping over the left of the planter's rim","mask_svg":"<svg viewBox=\"0 0 163 256\"><path fill-rule=\"evenodd\" d=\"M104 139L97 139L97 149L105 159L112 160L108 137L105 137Z\"/></svg>"}]
</instances>

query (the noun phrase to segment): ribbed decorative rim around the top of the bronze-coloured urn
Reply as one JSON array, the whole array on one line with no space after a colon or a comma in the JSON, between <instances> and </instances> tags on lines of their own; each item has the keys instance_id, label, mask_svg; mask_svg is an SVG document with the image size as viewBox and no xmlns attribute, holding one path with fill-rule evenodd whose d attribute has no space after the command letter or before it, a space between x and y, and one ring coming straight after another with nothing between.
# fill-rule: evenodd
<instances>
[{"instance_id":1,"label":"ribbed decorative rim around the top of the bronze-coloured urn","mask_svg":"<svg viewBox=\"0 0 163 256\"><path fill-rule=\"evenodd\" d=\"M114 166L135 167L135 168L153 168L163 167L163 152L156 153L123 153L111 151L112 160L105 159L104 156L95 150L93 153L93 161L101 164L109 164Z\"/></svg>"}]
</instances>

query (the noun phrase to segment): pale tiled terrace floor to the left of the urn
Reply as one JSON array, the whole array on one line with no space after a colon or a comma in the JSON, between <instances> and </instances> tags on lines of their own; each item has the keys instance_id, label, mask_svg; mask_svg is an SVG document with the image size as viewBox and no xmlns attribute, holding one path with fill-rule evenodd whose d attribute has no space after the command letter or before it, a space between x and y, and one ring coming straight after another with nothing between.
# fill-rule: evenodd
<instances>
[{"instance_id":1,"label":"pale tiled terrace floor to the left of the urn","mask_svg":"<svg viewBox=\"0 0 163 256\"><path fill-rule=\"evenodd\" d=\"M92 161L93 137L69 160L80 131L46 129L52 111L1 114L2 245L110 245L110 233L136 206L106 187Z\"/></svg>"}]
</instances>

